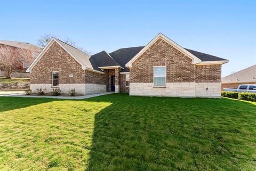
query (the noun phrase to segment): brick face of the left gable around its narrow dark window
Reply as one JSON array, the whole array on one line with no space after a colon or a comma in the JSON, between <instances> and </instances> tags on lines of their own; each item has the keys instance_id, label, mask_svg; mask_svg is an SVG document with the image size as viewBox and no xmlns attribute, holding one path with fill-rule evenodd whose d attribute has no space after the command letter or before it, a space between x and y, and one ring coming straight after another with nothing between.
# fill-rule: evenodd
<instances>
[{"instance_id":1,"label":"brick face of the left gable around its narrow dark window","mask_svg":"<svg viewBox=\"0 0 256 171\"><path fill-rule=\"evenodd\" d=\"M31 84L51 84L52 71L59 71L59 84L85 83L85 71L72 56L54 42L31 72ZM73 78L69 75L73 74Z\"/></svg>"}]
</instances>

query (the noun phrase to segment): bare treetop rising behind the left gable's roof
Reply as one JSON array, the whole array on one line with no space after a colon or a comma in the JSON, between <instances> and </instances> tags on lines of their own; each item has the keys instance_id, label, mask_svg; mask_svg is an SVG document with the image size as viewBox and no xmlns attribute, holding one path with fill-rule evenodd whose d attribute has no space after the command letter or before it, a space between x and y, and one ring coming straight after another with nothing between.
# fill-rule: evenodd
<instances>
[{"instance_id":1,"label":"bare treetop rising behind the left gable's roof","mask_svg":"<svg viewBox=\"0 0 256 171\"><path fill-rule=\"evenodd\" d=\"M37 39L37 45L39 47L42 47L44 48L48 42L50 42L50 40L52 39L52 37L55 37L55 38L58 38L57 35L52 35L52 34L44 34L44 35L41 35L41 37L39 39ZM66 37L65 39L63 39L63 42L77 48L78 50L84 52L84 53L87 53L89 54L89 52L87 52L83 47L80 47L80 46L77 46L76 42L74 42L74 40Z\"/></svg>"}]
</instances>

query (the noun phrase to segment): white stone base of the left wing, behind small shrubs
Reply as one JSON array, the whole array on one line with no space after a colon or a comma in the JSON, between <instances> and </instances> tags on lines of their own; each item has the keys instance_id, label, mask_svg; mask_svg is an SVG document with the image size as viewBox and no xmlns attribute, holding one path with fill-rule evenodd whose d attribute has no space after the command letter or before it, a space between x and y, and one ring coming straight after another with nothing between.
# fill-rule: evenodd
<instances>
[{"instance_id":1,"label":"white stone base of the left wing, behind small shrubs","mask_svg":"<svg viewBox=\"0 0 256 171\"><path fill-rule=\"evenodd\" d=\"M59 84L59 87L52 87L51 84L30 84L33 93L37 93L37 88L45 89L45 93L50 93L53 88L60 88L61 93L68 94L69 89L76 89L77 94L97 94L106 92L107 86L100 84Z\"/></svg>"}]
</instances>

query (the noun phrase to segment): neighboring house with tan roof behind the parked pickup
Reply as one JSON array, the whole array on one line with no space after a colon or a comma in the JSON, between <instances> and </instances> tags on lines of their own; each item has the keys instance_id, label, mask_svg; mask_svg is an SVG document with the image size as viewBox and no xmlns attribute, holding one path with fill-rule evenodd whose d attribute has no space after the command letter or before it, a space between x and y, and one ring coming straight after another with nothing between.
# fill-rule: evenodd
<instances>
[{"instance_id":1,"label":"neighboring house with tan roof behind the parked pickup","mask_svg":"<svg viewBox=\"0 0 256 171\"><path fill-rule=\"evenodd\" d=\"M237 88L241 84L256 84L256 64L221 79L221 88Z\"/></svg>"}]
</instances>

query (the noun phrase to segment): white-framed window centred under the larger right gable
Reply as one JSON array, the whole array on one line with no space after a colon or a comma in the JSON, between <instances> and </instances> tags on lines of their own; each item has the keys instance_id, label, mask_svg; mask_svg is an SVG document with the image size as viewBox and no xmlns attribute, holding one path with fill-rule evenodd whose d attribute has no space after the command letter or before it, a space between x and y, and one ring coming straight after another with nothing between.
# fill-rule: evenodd
<instances>
[{"instance_id":1,"label":"white-framed window centred under the larger right gable","mask_svg":"<svg viewBox=\"0 0 256 171\"><path fill-rule=\"evenodd\" d=\"M166 66L154 67L154 86L166 86Z\"/></svg>"}]
</instances>

